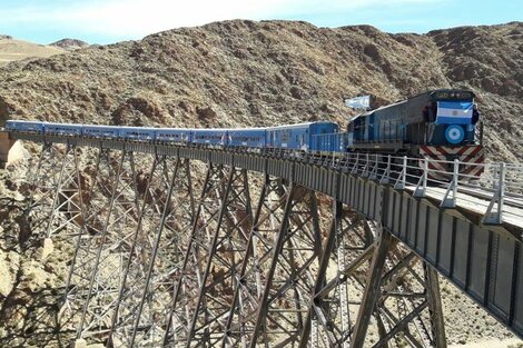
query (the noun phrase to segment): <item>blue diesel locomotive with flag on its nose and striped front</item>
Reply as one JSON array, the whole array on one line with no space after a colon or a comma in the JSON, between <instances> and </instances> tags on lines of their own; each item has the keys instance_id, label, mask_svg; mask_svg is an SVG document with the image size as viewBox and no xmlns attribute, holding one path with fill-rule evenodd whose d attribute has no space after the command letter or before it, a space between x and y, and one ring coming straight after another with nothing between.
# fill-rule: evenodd
<instances>
[{"instance_id":1,"label":"blue diesel locomotive with flag on its nose and striped front","mask_svg":"<svg viewBox=\"0 0 523 348\"><path fill-rule=\"evenodd\" d=\"M356 116L347 125L349 149L426 158L433 160L431 169L441 171L452 171L448 162L455 159L483 163L483 129L474 98L468 90L440 89ZM483 167L461 170L478 176Z\"/></svg>"}]
</instances>

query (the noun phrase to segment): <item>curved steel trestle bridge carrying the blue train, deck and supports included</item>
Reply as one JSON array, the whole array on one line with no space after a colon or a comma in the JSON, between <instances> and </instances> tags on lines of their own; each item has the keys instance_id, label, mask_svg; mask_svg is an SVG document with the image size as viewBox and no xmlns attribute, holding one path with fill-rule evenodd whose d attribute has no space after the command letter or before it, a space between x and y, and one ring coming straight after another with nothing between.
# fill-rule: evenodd
<instances>
[{"instance_id":1,"label":"curved steel trestle bridge carrying the blue train, deck and supports included","mask_svg":"<svg viewBox=\"0 0 523 348\"><path fill-rule=\"evenodd\" d=\"M72 344L446 347L440 276L523 337L521 165L10 137Z\"/></svg>"}]
</instances>

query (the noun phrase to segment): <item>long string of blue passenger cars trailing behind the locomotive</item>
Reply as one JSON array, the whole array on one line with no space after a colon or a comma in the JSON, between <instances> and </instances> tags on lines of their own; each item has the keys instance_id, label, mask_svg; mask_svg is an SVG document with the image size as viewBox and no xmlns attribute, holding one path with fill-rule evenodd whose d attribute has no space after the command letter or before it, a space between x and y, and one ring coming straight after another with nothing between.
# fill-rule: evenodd
<instances>
[{"instance_id":1,"label":"long string of blue passenger cars trailing behind the locomotive","mask_svg":"<svg viewBox=\"0 0 523 348\"><path fill-rule=\"evenodd\" d=\"M330 121L305 122L267 128L151 128L112 127L99 125L70 125L8 120L7 131L39 135L82 136L97 139L125 139L158 143L193 145L208 147L243 147L248 149L283 148L303 151L329 151L317 136L338 131Z\"/></svg>"}]
</instances>

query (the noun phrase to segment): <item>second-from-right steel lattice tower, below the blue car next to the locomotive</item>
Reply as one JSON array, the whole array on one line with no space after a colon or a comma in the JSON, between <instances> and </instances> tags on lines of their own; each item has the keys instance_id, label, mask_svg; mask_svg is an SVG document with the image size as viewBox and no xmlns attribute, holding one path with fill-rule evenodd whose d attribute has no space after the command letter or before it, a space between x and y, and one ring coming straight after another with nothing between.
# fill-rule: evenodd
<instances>
[{"instance_id":1,"label":"second-from-right steel lattice tower, below the blue car next to the locomotive","mask_svg":"<svg viewBox=\"0 0 523 348\"><path fill-rule=\"evenodd\" d=\"M249 347L258 344L286 347L299 341L322 245L314 191L292 186L278 232L260 252L264 288L247 317L253 325Z\"/></svg>"}]
</instances>

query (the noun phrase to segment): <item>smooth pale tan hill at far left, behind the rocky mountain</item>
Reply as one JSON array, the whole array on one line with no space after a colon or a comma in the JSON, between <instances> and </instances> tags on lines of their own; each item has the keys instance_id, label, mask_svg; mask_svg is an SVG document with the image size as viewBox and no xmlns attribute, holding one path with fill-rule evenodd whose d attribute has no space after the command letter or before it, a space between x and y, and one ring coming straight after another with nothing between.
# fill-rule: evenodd
<instances>
[{"instance_id":1,"label":"smooth pale tan hill at far left, behind the rocky mountain","mask_svg":"<svg viewBox=\"0 0 523 348\"><path fill-rule=\"evenodd\" d=\"M11 61L47 58L65 52L59 47L17 40L6 34L0 36L0 67Z\"/></svg>"}]
</instances>

